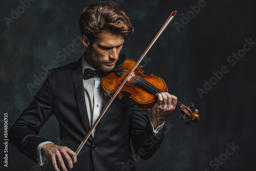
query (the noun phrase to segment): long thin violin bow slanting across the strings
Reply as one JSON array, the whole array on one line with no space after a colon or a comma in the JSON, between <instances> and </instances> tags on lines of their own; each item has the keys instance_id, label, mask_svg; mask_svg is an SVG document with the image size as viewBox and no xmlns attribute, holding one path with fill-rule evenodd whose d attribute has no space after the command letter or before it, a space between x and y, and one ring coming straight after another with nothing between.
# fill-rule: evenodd
<instances>
[{"instance_id":1,"label":"long thin violin bow slanting across the strings","mask_svg":"<svg viewBox=\"0 0 256 171\"><path fill-rule=\"evenodd\" d=\"M136 67L139 65L139 63L141 62L141 60L145 57L145 55L147 54L147 52L150 50L150 48L154 45L154 43L156 42L156 40L158 39L158 37L161 35L161 33L164 31L164 29L166 28L166 26L170 23L170 20L173 19L173 17L175 16L176 11L173 11L170 16L167 18L166 22L164 23L164 25L162 26L162 28L159 30L159 32L157 33L157 35L155 36L155 38L152 40L152 42L150 43L150 45L146 48L145 52L141 55L141 57L139 58L139 60L136 62L135 66L133 67L133 69L131 70L131 72L129 74L127 74L127 76L125 77L125 79L123 80L123 82L120 84L119 88L116 90L116 92L114 93L114 95L111 97L111 99L109 100L109 102L105 105L104 109L101 111L99 117L97 118L97 120L94 122L94 124L92 125L90 131L88 132L88 134L86 135L86 137L84 137L83 141L80 143L80 145L78 146L77 150L76 150L76 156L79 154L79 152L81 151L81 148L83 147L83 145L86 143L86 141L88 140L88 138L90 137L90 135L92 134L92 131L95 129L95 127L98 125L100 119L102 118L102 116L105 114L106 110L108 110L110 104L114 101L114 99L116 98L117 94L121 91L121 89L123 88L125 82L129 79L129 77L132 75L132 73L134 72L134 70L136 69Z\"/></svg>"}]
</instances>

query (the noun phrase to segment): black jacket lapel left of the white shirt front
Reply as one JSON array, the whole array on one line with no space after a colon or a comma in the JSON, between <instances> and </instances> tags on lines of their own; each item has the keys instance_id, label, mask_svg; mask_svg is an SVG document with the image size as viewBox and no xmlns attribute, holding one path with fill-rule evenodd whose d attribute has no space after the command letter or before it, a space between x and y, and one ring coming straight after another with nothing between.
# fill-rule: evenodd
<instances>
[{"instance_id":1,"label":"black jacket lapel left of the white shirt front","mask_svg":"<svg viewBox=\"0 0 256 171\"><path fill-rule=\"evenodd\" d=\"M77 62L74 63L73 69L75 71L72 72L71 75L73 79L73 85L75 89L78 109L79 109L84 127L86 127L86 132L88 133L90 130L90 123L89 123L88 113L86 108L86 100L84 99L81 59L82 58L80 58Z\"/></svg>"}]
</instances>

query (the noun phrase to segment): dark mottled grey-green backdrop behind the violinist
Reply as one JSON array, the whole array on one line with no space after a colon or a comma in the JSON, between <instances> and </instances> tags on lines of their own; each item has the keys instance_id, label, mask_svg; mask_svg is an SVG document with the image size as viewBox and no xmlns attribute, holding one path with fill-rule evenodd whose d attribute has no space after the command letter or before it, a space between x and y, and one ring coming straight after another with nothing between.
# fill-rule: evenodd
<instances>
[{"instance_id":1,"label":"dark mottled grey-green backdrop behind the violinist","mask_svg":"<svg viewBox=\"0 0 256 171\"><path fill-rule=\"evenodd\" d=\"M75 34L79 35L78 19L84 6L103 1L42 1L37 0L9 23L12 10L19 1L1 2L1 158L4 157L4 113L8 126L27 108L41 83L29 91L35 77L44 78L44 67L56 61L58 66L76 61L85 48L73 46L66 59L59 58L62 48L72 47ZM111 2L106 0L106 2ZM198 0L129 1L113 0L127 15L135 28L125 39L121 53L138 60L150 44L169 14L177 14L156 44L141 62L145 75L153 73L163 78L168 92L185 105L195 104L201 120L189 126L180 120L180 111L167 119L172 128L165 134L159 151L148 160L137 161L138 170L255 170L255 54L256 45L243 54L234 65L227 59L232 53L243 52L245 39L256 42L255 2L205 0L198 14L190 14L184 23L183 15L198 5ZM182 23L183 18L183 23ZM183 27L177 29L177 23ZM79 41L76 41L78 44ZM247 45L246 48L249 48ZM233 66L232 66L233 65ZM227 67L221 79L212 72ZM43 81L44 79L40 79ZM200 97L197 89L204 89L204 80L214 85ZM206 88L207 89L207 88ZM56 144L56 119L51 117L40 136ZM237 146L232 149L230 145ZM229 155L227 155L228 153ZM230 153L232 153L230 155ZM220 158L219 163L216 162ZM49 162L44 167L19 153L9 142L8 168L4 170L52 170ZM79 160L79 157L78 157ZM211 164L210 164L211 163ZM3 169L1 169L3 170Z\"/></svg>"}]
</instances>

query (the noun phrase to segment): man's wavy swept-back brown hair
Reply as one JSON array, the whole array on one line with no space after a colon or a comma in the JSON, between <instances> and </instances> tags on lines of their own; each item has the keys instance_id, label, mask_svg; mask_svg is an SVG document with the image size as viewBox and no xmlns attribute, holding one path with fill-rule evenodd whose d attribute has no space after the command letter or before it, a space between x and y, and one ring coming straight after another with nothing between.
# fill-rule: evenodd
<instances>
[{"instance_id":1,"label":"man's wavy swept-back brown hair","mask_svg":"<svg viewBox=\"0 0 256 171\"><path fill-rule=\"evenodd\" d=\"M81 35L94 41L100 33L133 34L129 17L117 6L107 3L91 4L83 8L79 19Z\"/></svg>"}]
</instances>

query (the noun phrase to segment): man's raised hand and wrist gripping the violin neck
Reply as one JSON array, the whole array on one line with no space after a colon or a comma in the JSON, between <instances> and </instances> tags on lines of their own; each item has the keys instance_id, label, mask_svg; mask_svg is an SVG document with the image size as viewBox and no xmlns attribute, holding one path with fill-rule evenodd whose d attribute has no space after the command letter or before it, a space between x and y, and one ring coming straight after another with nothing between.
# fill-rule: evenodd
<instances>
[{"instance_id":1,"label":"man's raised hand and wrist gripping the violin neck","mask_svg":"<svg viewBox=\"0 0 256 171\"><path fill-rule=\"evenodd\" d=\"M177 97L167 92L156 94L156 96L158 102L154 105L151 113L154 129L163 124L164 120L173 113L177 104Z\"/></svg>"}]
</instances>

